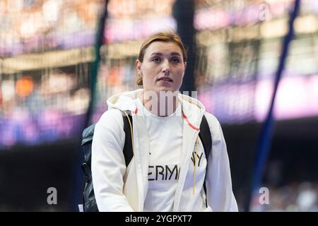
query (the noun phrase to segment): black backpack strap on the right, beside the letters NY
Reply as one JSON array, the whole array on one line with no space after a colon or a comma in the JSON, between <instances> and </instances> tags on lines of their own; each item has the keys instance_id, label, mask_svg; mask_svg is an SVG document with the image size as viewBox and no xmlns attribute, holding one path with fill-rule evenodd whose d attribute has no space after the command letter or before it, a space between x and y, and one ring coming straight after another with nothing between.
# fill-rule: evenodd
<instances>
[{"instance_id":1,"label":"black backpack strap on the right, beside the letters NY","mask_svg":"<svg viewBox=\"0 0 318 226\"><path fill-rule=\"evenodd\" d=\"M211 148L212 148L212 138L211 138L210 126L208 126L208 121L206 120L205 116L203 116L201 120L199 138L201 139L202 145L204 146L204 153L206 154L206 162L208 162L208 155L210 154ZM206 176L204 178L203 186L204 186L204 192L206 193ZM208 207L207 197L206 197L206 207Z\"/></svg>"}]
</instances>

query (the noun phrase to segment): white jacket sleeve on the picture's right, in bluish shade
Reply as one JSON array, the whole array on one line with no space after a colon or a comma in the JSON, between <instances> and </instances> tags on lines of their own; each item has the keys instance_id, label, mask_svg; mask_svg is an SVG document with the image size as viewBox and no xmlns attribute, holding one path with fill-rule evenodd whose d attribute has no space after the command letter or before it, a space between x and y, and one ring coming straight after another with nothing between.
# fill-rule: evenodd
<instances>
[{"instance_id":1,"label":"white jacket sleeve on the picture's right, in bluish shade","mask_svg":"<svg viewBox=\"0 0 318 226\"><path fill-rule=\"evenodd\" d=\"M205 114L212 136L212 150L208 156L206 170L206 189L208 206L213 211L238 211L232 192L230 162L223 132L218 119L212 114Z\"/></svg>"}]
</instances>

